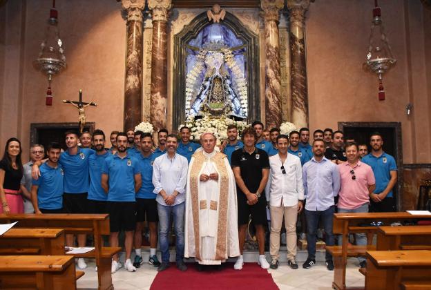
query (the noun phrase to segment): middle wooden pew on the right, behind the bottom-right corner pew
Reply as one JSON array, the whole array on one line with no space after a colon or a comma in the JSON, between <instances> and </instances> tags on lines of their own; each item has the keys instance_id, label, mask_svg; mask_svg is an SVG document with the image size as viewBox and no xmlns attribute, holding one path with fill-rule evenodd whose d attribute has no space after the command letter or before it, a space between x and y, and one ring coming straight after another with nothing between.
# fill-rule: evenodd
<instances>
[{"instance_id":1,"label":"middle wooden pew on the right, behind the bottom-right corner pew","mask_svg":"<svg viewBox=\"0 0 431 290\"><path fill-rule=\"evenodd\" d=\"M431 226L379 226L377 251L431 249Z\"/></svg>"}]
</instances>

